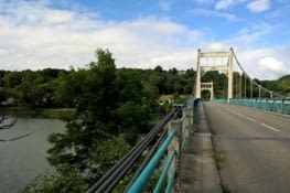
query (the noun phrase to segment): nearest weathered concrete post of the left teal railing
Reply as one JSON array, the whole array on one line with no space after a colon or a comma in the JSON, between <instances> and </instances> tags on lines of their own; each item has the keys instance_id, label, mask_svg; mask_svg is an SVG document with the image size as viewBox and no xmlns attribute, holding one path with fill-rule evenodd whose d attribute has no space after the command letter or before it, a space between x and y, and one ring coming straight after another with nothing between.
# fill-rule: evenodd
<instances>
[{"instance_id":1,"label":"nearest weathered concrete post of the left teal railing","mask_svg":"<svg viewBox=\"0 0 290 193\"><path fill-rule=\"evenodd\" d=\"M182 122L180 119L174 119L171 120L169 122L169 133L171 132L171 130L176 129L178 133L174 137L174 139L172 140L172 142L169 144L168 147L168 153L170 153L171 151L176 151L176 157L175 157L175 161L172 162L169 172L168 172L168 180L170 181L171 176L174 175L174 173L176 172L175 175L175 181L174 181L174 189L171 191L171 193L175 193L180 191L180 163L181 163L181 137L182 137Z\"/></svg>"}]
</instances>

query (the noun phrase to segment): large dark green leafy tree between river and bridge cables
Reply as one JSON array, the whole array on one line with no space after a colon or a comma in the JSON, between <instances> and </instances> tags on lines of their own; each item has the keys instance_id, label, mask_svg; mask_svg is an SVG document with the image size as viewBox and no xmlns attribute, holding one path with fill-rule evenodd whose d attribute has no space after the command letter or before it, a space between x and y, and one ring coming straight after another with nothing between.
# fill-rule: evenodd
<instances>
[{"instance_id":1,"label":"large dark green leafy tree between river and bridge cables","mask_svg":"<svg viewBox=\"0 0 290 193\"><path fill-rule=\"evenodd\" d=\"M53 143L50 163L58 173L73 168L86 185L100 178L140 133L148 131L155 106L154 94L137 71L117 71L108 51L97 50L96 56L97 62L89 63L87 69L72 69L63 79L60 96L71 98L76 114L64 133L49 137Z\"/></svg>"}]
</instances>

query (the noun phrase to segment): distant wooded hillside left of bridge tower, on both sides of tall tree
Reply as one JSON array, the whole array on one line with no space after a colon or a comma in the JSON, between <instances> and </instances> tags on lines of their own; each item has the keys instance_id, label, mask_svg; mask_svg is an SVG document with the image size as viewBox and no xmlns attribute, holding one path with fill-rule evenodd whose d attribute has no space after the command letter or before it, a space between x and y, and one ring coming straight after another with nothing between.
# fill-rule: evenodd
<instances>
[{"instance_id":1,"label":"distant wooded hillside left of bridge tower, on both sides of tall tree","mask_svg":"<svg viewBox=\"0 0 290 193\"><path fill-rule=\"evenodd\" d=\"M66 96L64 85L78 78L72 84L80 88L83 86L82 76L87 76L88 72L88 69L75 68L69 71L57 68L0 71L0 101L2 105L31 108L74 107L75 96ZM116 72L120 76L132 75L140 79L155 98L159 95L189 95L193 90L195 81L193 69L179 73L176 68L164 71L161 66L157 66L154 69L117 68Z\"/></svg>"}]
</instances>

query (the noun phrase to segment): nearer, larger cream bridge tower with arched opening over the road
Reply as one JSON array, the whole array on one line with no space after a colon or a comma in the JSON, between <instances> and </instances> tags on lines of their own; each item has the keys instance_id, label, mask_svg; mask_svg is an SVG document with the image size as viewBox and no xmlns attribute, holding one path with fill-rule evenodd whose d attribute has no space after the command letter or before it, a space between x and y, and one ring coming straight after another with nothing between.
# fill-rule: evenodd
<instances>
[{"instance_id":1,"label":"nearer, larger cream bridge tower with arched opening over the road","mask_svg":"<svg viewBox=\"0 0 290 193\"><path fill-rule=\"evenodd\" d=\"M202 58L223 58L227 57L227 64L226 65L206 65L201 64ZM197 50L197 67L196 67L196 82L195 82L195 98L201 98L202 95L202 82L201 78L203 75L205 75L210 71L219 71L224 72L227 76L227 100L229 101L230 98L233 98L233 57L234 57L234 51L230 47L229 52L207 52L203 53L201 49Z\"/></svg>"}]
</instances>

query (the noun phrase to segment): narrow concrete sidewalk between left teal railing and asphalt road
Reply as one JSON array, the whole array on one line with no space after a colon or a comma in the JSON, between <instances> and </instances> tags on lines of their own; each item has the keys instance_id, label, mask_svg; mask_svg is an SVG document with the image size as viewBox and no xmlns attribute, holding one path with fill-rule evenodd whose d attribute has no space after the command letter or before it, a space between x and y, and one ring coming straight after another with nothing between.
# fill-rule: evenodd
<instances>
[{"instance_id":1,"label":"narrow concrete sidewalk between left teal railing and asphalt road","mask_svg":"<svg viewBox=\"0 0 290 193\"><path fill-rule=\"evenodd\" d=\"M191 133L182 154L181 191L182 193L222 193L203 104L200 105L198 112L195 132Z\"/></svg>"}]
</instances>

